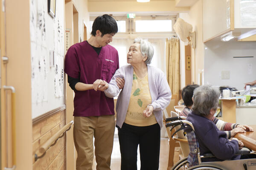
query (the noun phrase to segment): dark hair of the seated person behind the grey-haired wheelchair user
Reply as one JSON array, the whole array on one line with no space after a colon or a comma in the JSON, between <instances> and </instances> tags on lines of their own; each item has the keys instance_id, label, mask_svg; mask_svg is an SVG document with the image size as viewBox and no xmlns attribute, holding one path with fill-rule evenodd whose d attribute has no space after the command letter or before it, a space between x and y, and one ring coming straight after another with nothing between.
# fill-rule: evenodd
<instances>
[{"instance_id":1,"label":"dark hair of the seated person behind the grey-haired wheelchair user","mask_svg":"<svg viewBox=\"0 0 256 170\"><path fill-rule=\"evenodd\" d=\"M184 87L181 91L181 96L184 101L185 106L192 106L193 101L192 101L192 96L195 88L198 88L199 85L187 85Z\"/></svg>"}]
</instances>

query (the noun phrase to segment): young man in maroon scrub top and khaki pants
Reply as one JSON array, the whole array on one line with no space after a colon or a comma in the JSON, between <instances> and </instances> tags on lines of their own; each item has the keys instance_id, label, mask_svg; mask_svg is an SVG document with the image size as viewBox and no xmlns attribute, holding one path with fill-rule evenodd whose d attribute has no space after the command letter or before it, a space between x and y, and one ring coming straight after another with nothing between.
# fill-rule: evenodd
<instances>
[{"instance_id":1,"label":"young man in maroon scrub top and khaki pants","mask_svg":"<svg viewBox=\"0 0 256 170\"><path fill-rule=\"evenodd\" d=\"M110 170L115 130L114 102L113 98L105 96L105 87L99 83L102 80L110 82L119 68L118 53L108 45L117 31L113 17L107 14L99 16L93 22L90 39L72 45L66 54L64 71L75 92L73 116L77 170L92 170L93 136L96 169Z\"/></svg>"}]
</instances>

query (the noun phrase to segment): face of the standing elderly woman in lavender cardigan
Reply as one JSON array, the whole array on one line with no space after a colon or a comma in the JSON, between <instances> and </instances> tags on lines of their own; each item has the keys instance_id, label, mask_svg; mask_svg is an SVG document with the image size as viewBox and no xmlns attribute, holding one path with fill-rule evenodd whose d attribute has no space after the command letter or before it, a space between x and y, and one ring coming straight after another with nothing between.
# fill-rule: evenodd
<instances>
[{"instance_id":1,"label":"face of the standing elderly woman in lavender cardigan","mask_svg":"<svg viewBox=\"0 0 256 170\"><path fill-rule=\"evenodd\" d=\"M131 64L131 65L136 65L139 64L141 62L144 62L147 59L147 57L144 57L141 54L140 51L140 44L139 43L133 43L128 51L127 54L127 63Z\"/></svg>"}]
</instances>

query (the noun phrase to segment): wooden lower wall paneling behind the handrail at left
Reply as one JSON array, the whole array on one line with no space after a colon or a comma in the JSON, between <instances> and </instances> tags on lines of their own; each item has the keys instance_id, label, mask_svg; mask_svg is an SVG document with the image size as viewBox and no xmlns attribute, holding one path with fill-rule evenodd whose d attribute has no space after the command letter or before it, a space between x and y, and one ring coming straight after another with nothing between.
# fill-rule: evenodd
<instances>
[{"instance_id":1,"label":"wooden lower wall paneling behind the handrail at left","mask_svg":"<svg viewBox=\"0 0 256 170\"><path fill-rule=\"evenodd\" d=\"M41 156L39 148L58 132L66 123L66 110L56 108L51 114L33 121L32 128L32 162L34 170L65 170L66 169L66 135L58 139L45 155L35 161L35 153Z\"/></svg>"}]
</instances>

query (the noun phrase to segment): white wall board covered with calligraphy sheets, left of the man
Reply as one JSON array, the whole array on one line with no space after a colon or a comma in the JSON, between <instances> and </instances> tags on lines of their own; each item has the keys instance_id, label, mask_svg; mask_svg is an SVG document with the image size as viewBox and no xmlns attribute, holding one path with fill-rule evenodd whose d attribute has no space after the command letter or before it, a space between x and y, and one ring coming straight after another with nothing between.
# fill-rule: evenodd
<instances>
[{"instance_id":1,"label":"white wall board covered with calligraphy sheets, left of the man","mask_svg":"<svg viewBox=\"0 0 256 170\"><path fill-rule=\"evenodd\" d=\"M64 3L30 0L32 119L64 105Z\"/></svg>"}]
</instances>

